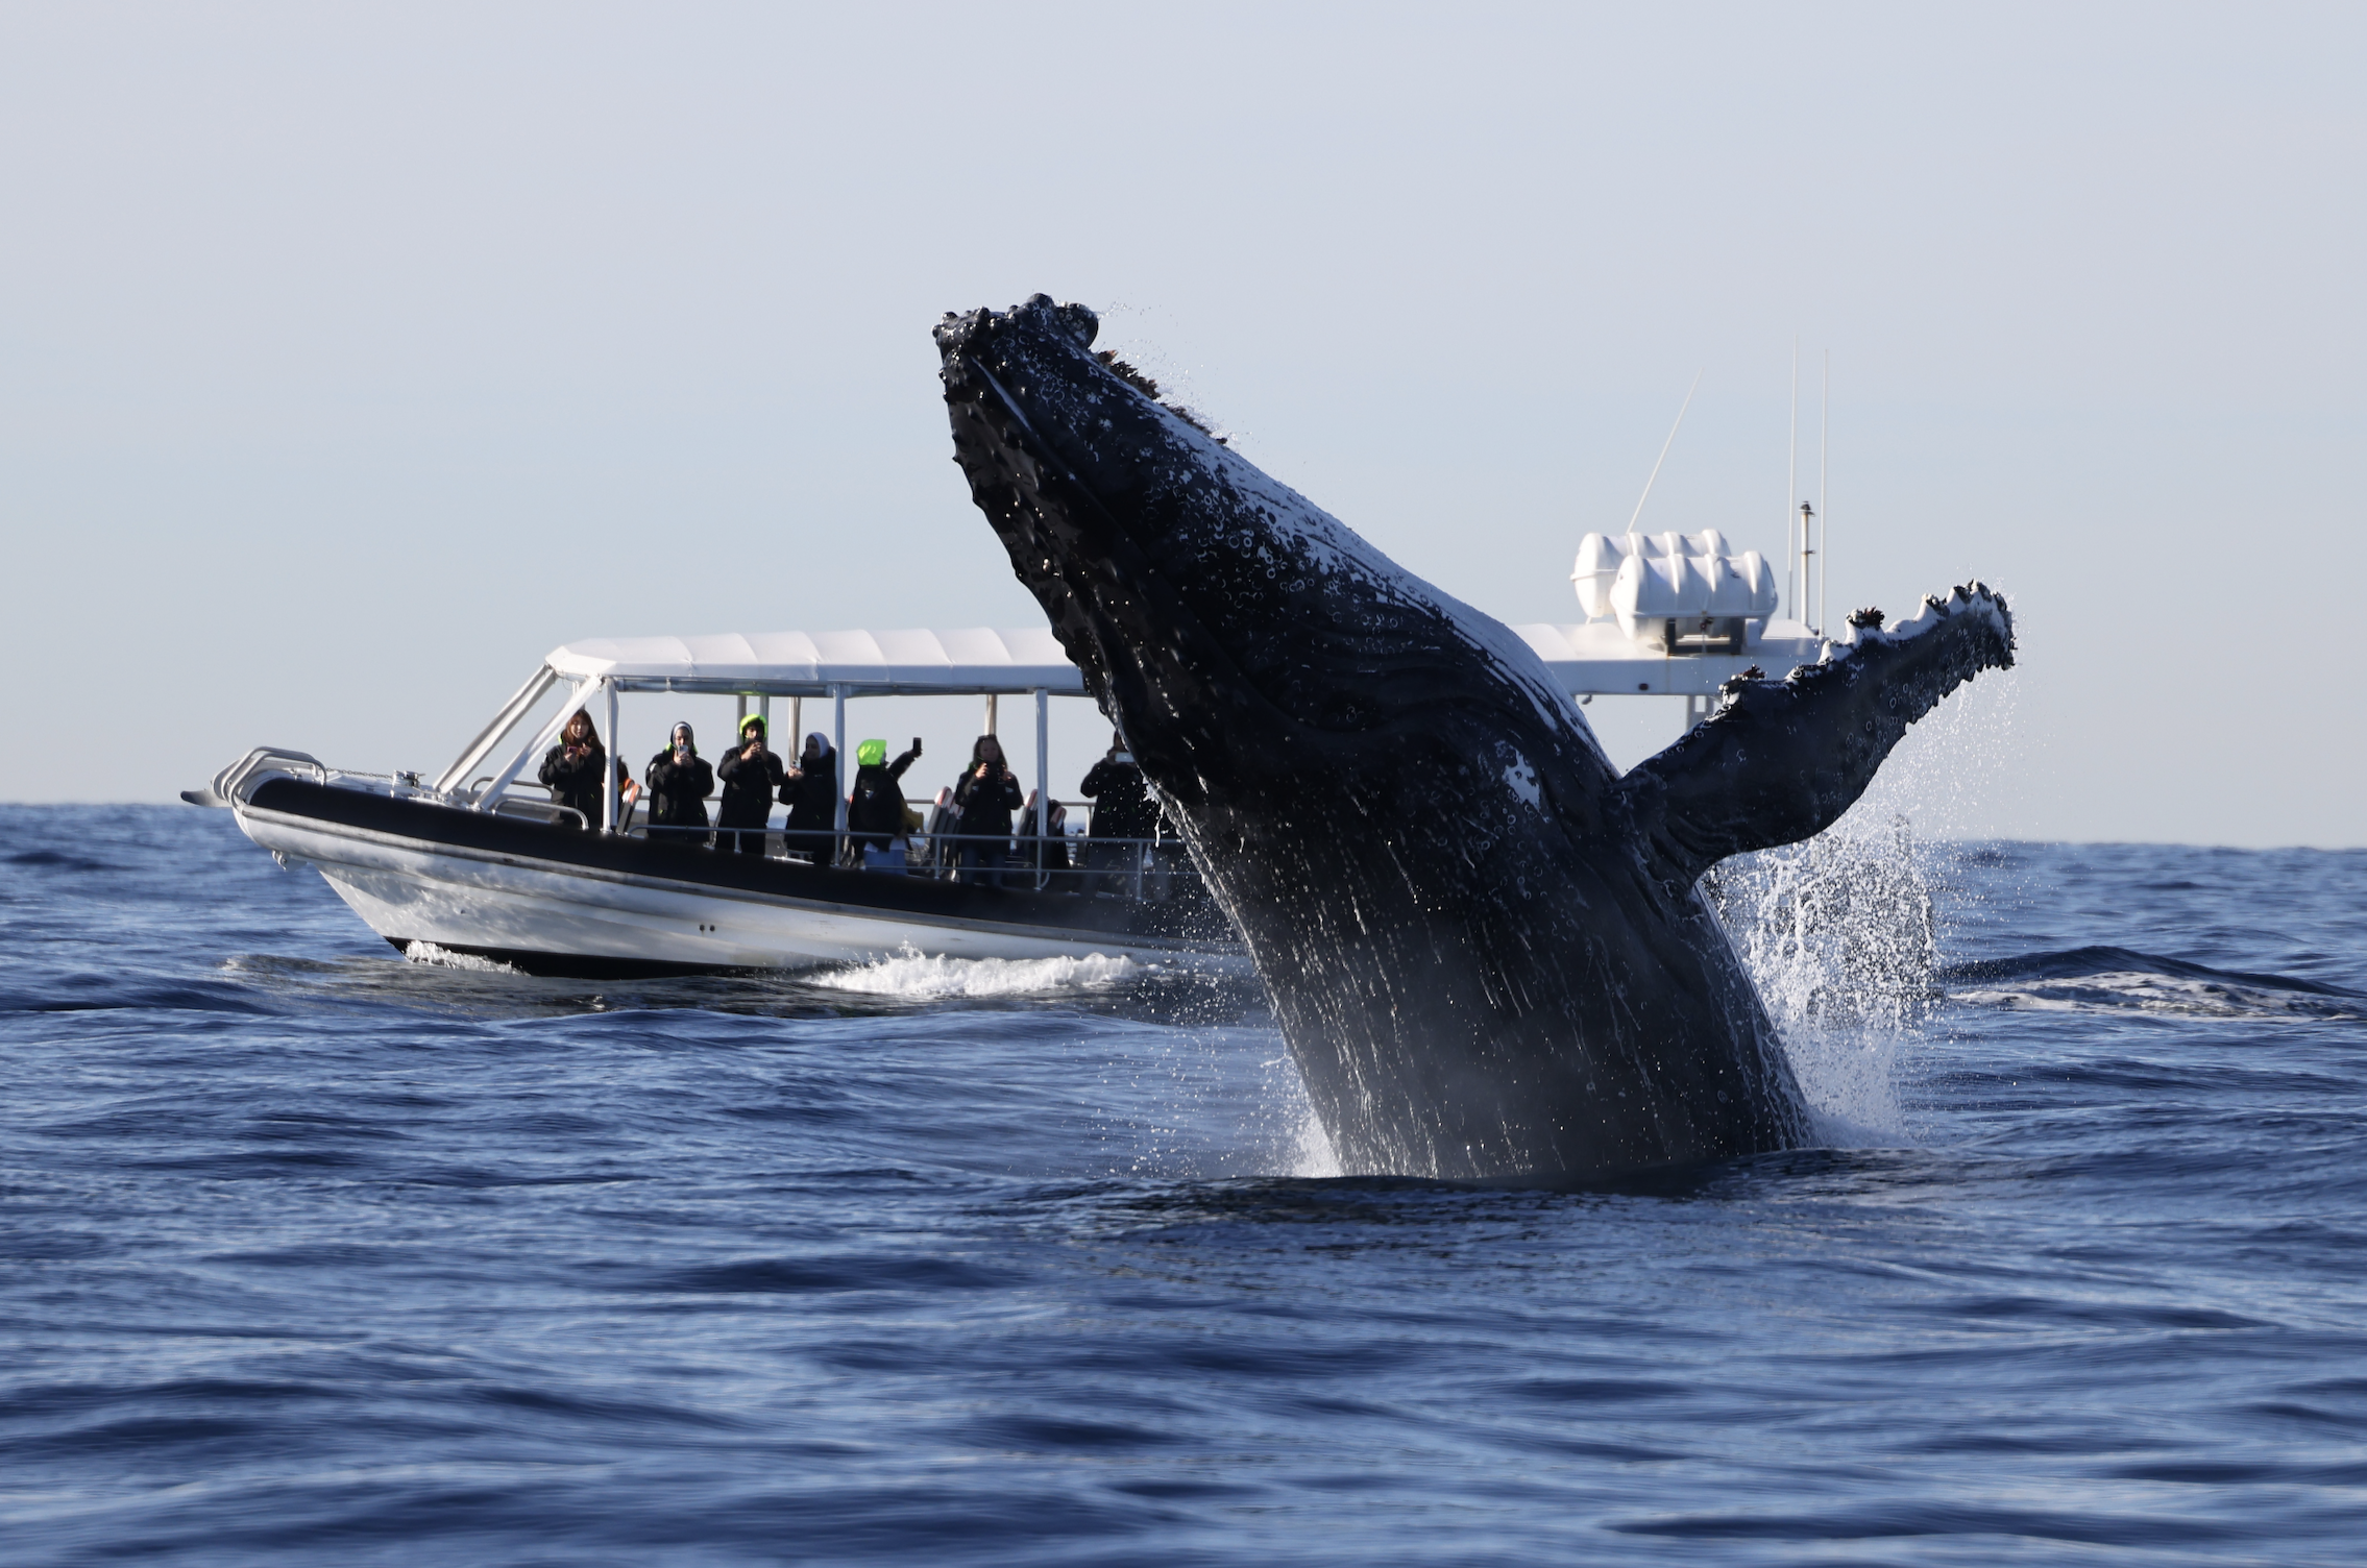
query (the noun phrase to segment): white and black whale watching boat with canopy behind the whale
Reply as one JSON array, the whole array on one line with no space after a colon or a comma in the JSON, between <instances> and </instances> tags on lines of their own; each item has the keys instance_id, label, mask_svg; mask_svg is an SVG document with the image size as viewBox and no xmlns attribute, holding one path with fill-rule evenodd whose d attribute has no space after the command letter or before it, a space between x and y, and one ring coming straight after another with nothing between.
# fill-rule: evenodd
<instances>
[{"instance_id":1,"label":"white and black whale watching boat with canopy behind the whale","mask_svg":"<svg viewBox=\"0 0 2367 1568\"><path fill-rule=\"evenodd\" d=\"M1752 665L1782 672L1825 648L1806 624L1775 620L1761 556L1728 553L1716 532L1588 534L1572 577L1584 624L1513 629L1574 698L1676 695L1697 721L1726 679ZM765 854L637 821L613 778L599 821L521 783L578 710L618 757L620 700L649 693L736 698L741 717L767 719L767 736L776 702L793 707L791 733L802 705L828 702L833 764L845 754L852 698L985 698L989 733L994 702L1027 698L1034 809L1013 837L982 842L1004 863L997 873L956 873L963 835L930 814L897 840L902 863L890 856L883 875L876 851L859 856L850 844L847 778L836 788L836 830L807 835L824 842L800 844L772 825ZM791 970L904 951L1243 967L1240 939L1172 835L1060 840L1049 712L1051 698L1084 695L1082 672L1049 629L585 641L542 660L433 778L355 773L256 747L182 799L227 806L282 866L320 870L398 948L469 953L528 974ZM1086 842L1094 863L1075 868Z\"/></svg>"}]
</instances>

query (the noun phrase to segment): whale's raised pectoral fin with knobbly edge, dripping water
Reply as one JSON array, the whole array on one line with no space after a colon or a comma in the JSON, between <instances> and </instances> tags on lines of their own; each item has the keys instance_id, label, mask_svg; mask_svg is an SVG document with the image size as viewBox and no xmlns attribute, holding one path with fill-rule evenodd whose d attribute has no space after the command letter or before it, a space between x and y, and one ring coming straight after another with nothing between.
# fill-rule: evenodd
<instances>
[{"instance_id":1,"label":"whale's raised pectoral fin with knobbly edge, dripping water","mask_svg":"<svg viewBox=\"0 0 2367 1568\"><path fill-rule=\"evenodd\" d=\"M2014 662L2014 617L1979 582L1886 631L1879 620L1860 610L1849 643L1782 681L1735 676L1707 724L1619 780L1659 875L1690 887L1730 854L1820 832L1910 724Z\"/></svg>"}]
</instances>

